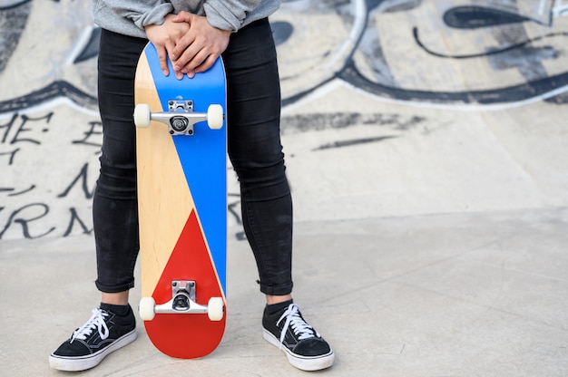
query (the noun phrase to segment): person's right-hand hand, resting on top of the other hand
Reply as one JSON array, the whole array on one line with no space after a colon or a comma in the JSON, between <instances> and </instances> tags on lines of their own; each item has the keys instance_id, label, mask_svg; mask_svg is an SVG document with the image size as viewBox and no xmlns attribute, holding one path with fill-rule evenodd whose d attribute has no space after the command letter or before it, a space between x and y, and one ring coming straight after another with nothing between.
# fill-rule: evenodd
<instances>
[{"instance_id":1,"label":"person's right-hand hand, resting on top of the other hand","mask_svg":"<svg viewBox=\"0 0 568 377\"><path fill-rule=\"evenodd\" d=\"M172 21L189 25L189 31L173 50L168 50L176 72L193 77L195 73L207 71L229 45L231 31L211 26L202 15L180 12Z\"/></svg>"}]
</instances>

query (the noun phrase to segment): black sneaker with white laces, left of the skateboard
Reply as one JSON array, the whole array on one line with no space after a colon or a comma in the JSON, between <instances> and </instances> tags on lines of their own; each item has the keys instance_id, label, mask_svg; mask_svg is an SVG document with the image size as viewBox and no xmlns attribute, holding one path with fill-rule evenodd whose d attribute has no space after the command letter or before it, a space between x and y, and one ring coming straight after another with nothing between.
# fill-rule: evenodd
<instances>
[{"instance_id":1,"label":"black sneaker with white laces, left of the skateboard","mask_svg":"<svg viewBox=\"0 0 568 377\"><path fill-rule=\"evenodd\" d=\"M60 371L84 371L135 339L136 319L132 308L125 317L96 308L91 319L49 356L49 365Z\"/></svg>"}]
</instances>

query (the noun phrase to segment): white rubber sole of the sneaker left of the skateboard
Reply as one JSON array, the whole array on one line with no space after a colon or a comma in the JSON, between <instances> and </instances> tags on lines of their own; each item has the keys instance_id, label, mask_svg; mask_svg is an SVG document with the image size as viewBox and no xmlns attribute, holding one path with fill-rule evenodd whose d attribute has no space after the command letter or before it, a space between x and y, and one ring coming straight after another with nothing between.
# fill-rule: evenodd
<instances>
[{"instance_id":1,"label":"white rubber sole of the sneaker left of the skateboard","mask_svg":"<svg viewBox=\"0 0 568 377\"><path fill-rule=\"evenodd\" d=\"M116 342L98 353L93 353L83 357L58 356L52 353L49 356L49 366L59 371L66 372L85 371L97 366L109 353L113 353L119 348L134 342L134 340L136 340L136 329L132 330L130 333L125 333Z\"/></svg>"}]
</instances>

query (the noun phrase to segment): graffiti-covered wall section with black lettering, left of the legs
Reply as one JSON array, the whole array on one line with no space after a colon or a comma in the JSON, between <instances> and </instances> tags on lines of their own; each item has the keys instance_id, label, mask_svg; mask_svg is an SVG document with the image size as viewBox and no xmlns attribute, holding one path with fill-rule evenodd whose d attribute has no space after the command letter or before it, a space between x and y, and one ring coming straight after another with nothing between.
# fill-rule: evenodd
<instances>
[{"instance_id":1,"label":"graffiti-covered wall section with black lettering, left of the legs","mask_svg":"<svg viewBox=\"0 0 568 377\"><path fill-rule=\"evenodd\" d=\"M88 2L0 1L0 238L91 232L97 49Z\"/></svg>"}]
</instances>

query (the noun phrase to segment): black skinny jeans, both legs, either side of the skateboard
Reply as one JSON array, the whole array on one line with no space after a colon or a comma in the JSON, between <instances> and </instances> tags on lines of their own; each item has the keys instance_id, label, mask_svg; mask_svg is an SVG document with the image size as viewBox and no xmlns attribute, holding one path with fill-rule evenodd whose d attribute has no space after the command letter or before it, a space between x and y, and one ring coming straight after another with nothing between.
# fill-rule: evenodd
<instances>
[{"instance_id":1,"label":"black skinny jeans, both legs, either side of the skateboard","mask_svg":"<svg viewBox=\"0 0 568 377\"><path fill-rule=\"evenodd\" d=\"M93 198L97 288L134 285L139 250L136 142L132 121L136 63L148 41L103 30L99 107L103 122L101 172ZM268 19L230 37L223 53L228 82L229 157L240 181L245 233L260 275L260 291L292 290L292 201L280 145L280 90Z\"/></svg>"}]
</instances>

